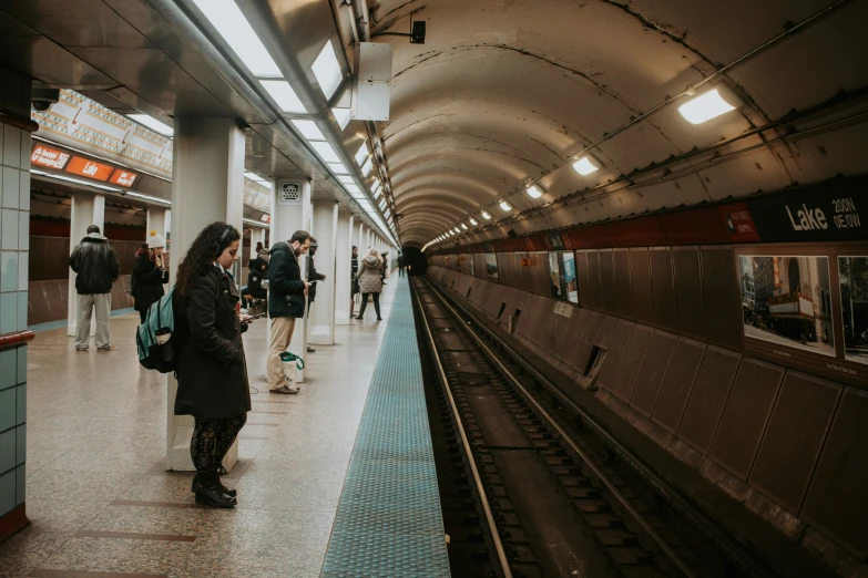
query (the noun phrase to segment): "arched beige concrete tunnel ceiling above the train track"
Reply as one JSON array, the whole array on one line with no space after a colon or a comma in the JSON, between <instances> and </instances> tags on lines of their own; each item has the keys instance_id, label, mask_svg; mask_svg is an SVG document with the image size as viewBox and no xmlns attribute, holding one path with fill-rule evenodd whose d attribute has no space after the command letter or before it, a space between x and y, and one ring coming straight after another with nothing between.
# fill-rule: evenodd
<instances>
[{"instance_id":1,"label":"arched beige concrete tunnel ceiling above the train track","mask_svg":"<svg viewBox=\"0 0 868 578\"><path fill-rule=\"evenodd\" d=\"M402 241L425 245L469 217L484 225L479 216L484 207L496 220L503 218L508 215L497 208L503 198L515 215L694 147L709 147L840 91L862 89L868 85L868 41L860 22L868 21L868 2L851 0L722 74L717 81L746 102L738 112L694 126L677 106L667 105L591 149L604 164L601 171L581 177L566 164L552 172L631 117L833 2L369 0L374 41L395 45L391 116L379 127ZM427 21L426 44L376 37L406 32L415 10L416 19ZM851 100L847 110L795 127L865 109L864 101ZM754 149L725 163L645 186L595 189L568 208L522 214L483 233L470 231L468 240L864 172L858 157L868 144L864 125L844 124L764 146L792 128L741 140L722 152ZM544 195L531 199L524 187L538 177Z\"/></svg>"}]
</instances>

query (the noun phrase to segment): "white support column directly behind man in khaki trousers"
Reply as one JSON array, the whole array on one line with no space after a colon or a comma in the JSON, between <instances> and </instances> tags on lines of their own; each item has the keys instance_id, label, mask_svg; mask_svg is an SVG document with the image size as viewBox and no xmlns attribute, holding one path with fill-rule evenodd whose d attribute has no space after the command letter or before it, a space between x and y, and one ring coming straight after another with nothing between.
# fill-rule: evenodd
<instances>
[{"instance_id":1,"label":"white support column directly behind man in khaki trousers","mask_svg":"<svg viewBox=\"0 0 868 578\"><path fill-rule=\"evenodd\" d=\"M297 187L298 194L295 198L283 198L280 188L282 185L294 185ZM277 177L272 186L272 228L268 234L268 238L272 246L276 242L288 241L293 234L299 229L310 231L313 206L310 205L310 194L313 192L313 182L309 178L304 180L284 179ZM303 256L298 259L298 266L302 269L302 279L307 279L307 256ZM328 273L326 273L328 275ZM305 317L296 319L295 330L293 331L293 340L289 342L289 351L304 358L307 355L307 326L308 318ZM267 330L268 342L272 340L272 327L268 322ZM263 368L263 372L265 368ZM303 383L305 380L306 370L299 370L296 374L296 381Z\"/></svg>"}]
</instances>

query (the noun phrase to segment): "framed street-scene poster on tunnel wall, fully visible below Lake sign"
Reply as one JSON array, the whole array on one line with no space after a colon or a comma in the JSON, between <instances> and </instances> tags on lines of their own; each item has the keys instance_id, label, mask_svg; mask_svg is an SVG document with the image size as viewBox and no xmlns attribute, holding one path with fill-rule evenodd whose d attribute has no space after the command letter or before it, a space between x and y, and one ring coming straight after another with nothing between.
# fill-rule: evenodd
<instances>
[{"instance_id":1,"label":"framed street-scene poster on tunnel wall, fully visible below Lake sign","mask_svg":"<svg viewBox=\"0 0 868 578\"><path fill-rule=\"evenodd\" d=\"M835 355L827 257L743 255L738 272L745 337Z\"/></svg>"}]
</instances>

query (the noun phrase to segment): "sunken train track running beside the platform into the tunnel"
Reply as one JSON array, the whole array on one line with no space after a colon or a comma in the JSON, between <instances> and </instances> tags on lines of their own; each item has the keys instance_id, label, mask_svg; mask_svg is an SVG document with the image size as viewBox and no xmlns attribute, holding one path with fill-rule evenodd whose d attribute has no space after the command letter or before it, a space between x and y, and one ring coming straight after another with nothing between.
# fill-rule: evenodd
<instances>
[{"instance_id":1,"label":"sunken train track running beside the platform into the tunnel","mask_svg":"<svg viewBox=\"0 0 868 578\"><path fill-rule=\"evenodd\" d=\"M413 296L456 576L772 576L468 311Z\"/></svg>"}]
</instances>

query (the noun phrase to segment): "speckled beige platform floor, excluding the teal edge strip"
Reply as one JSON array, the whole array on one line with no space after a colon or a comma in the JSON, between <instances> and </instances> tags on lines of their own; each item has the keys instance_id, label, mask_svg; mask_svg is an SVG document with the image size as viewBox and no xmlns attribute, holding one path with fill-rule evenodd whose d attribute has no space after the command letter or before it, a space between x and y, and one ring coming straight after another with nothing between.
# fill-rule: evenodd
<instances>
[{"instance_id":1,"label":"speckled beige platform floor, excluding the teal edge strip","mask_svg":"<svg viewBox=\"0 0 868 578\"><path fill-rule=\"evenodd\" d=\"M382 295L387 320L397 282ZM337 345L306 355L299 395L254 393L224 478L238 489L231 510L193 507L191 475L163 471L165 378L140 369L136 323L112 319L113 353L74 352L65 328L31 342L32 524L0 544L0 576L319 576L386 322L368 311L338 327ZM254 324L245 349L261 391L265 345Z\"/></svg>"}]
</instances>

